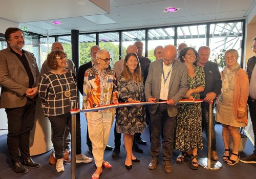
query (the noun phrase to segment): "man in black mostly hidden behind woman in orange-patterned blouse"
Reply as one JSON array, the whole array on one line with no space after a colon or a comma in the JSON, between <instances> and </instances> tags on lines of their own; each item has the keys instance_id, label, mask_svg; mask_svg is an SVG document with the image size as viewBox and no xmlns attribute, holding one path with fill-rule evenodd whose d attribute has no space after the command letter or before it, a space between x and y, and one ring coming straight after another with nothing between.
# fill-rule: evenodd
<instances>
[{"instance_id":1,"label":"man in black mostly hidden behind woman in orange-patterned blouse","mask_svg":"<svg viewBox=\"0 0 256 179\"><path fill-rule=\"evenodd\" d=\"M77 87L79 92L81 93L81 95L83 94L83 78L84 78L84 73L86 73L86 71L90 68L93 68L94 65L97 65L97 61L96 61L96 54L97 52L100 50L99 46L92 46L91 47L91 57L92 60L89 61L86 64L83 64L79 67L78 72L77 72ZM87 129L87 136L86 136L86 144L88 145L88 152L90 154L92 154L93 151L93 147L92 147L92 142L89 138L89 133L88 133L88 129ZM112 150L113 147L106 145L105 150Z\"/></svg>"}]
</instances>

